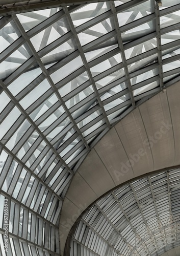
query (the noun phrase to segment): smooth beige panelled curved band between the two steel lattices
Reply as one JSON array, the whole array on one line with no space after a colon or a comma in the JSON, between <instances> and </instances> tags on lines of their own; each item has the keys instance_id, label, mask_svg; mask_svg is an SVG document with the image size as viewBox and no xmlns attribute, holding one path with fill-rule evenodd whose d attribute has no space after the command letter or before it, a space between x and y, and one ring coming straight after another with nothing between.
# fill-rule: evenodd
<instances>
[{"instance_id":1,"label":"smooth beige panelled curved band between the two steel lattices","mask_svg":"<svg viewBox=\"0 0 180 256\"><path fill-rule=\"evenodd\" d=\"M97 198L139 176L180 165L179 85L174 84L126 116L86 157L64 199L62 250L75 221Z\"/></svg>"}]
</instances>

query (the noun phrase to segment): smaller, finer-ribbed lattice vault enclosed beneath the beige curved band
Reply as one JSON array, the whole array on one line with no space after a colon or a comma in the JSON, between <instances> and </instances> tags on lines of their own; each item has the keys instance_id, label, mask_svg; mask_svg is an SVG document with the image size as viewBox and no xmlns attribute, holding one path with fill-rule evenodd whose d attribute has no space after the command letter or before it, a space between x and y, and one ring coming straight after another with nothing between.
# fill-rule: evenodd
<instances>
[{"instance_id":1,"label":"smaller, finer-ribbed lattice vault enclosed beneath the beige curved band","mask_svg":"<svg viewBox=\"0 0 180 256\"><path fill-rule=\"evenodd\" d=\"M76 227L70 255L158 256L179 246L179 178L173 169L97 201Z\"/></svg>"}]
</instances>

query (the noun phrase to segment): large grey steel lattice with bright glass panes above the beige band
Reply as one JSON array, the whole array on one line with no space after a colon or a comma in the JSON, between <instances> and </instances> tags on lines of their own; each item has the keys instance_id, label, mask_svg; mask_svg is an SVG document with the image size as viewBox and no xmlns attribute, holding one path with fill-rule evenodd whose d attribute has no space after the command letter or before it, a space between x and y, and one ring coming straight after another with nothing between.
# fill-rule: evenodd
<instances>
[{"instance_id":1,"label":"large grey steel lattice with bright glass panes above the beige band","mask_svg":"<svg viewBox=\"0 0 180 256\"><path fill-rule=\"evenodd\" d=\"M59 215L76 169L112 125L179 80L179 10L175 0L160 9L124 0L0 18L8 256L58 255Z\"/></svg>"}]
</instances>

